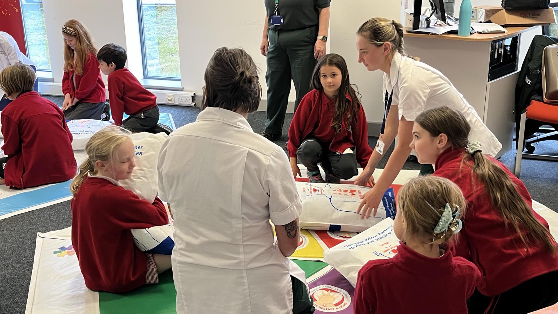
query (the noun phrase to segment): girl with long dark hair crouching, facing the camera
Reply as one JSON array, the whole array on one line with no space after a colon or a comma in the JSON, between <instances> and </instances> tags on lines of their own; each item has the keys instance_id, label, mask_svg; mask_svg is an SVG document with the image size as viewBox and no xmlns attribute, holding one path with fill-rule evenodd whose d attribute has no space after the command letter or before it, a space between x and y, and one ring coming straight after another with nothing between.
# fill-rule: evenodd
<instances>
[{"instance_id":1,"label":"girl with long dark hair crouching, facing the camera","mask_svg":"<svg viewBox=\"0 0 558 314\"><path fill-rule=\"evenodd\" d=\"M310 182L339 183L358 174L372 155L364 110L349 80L345 59L328 54L312 74L312 91L300 101L288 129L292 174L300 175L299 161ZM321 177L318 163L326 175Z\"/></svg>"}]
</instances>

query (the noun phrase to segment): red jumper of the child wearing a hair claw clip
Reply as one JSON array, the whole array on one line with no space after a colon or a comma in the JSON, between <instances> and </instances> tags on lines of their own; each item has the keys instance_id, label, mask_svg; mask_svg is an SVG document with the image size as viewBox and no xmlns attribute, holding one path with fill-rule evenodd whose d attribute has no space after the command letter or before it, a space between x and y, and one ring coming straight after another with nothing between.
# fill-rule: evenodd
<instances>
[{"instance_id":1,"label":"red jumper of the child wearing a hair claw clip","mask_svg":"<svg viewBox=\"0 0 558 314\"><path fill-rule=\"evenodd\" d=\"M355 314L466 314L466 300L482 284L473 263L445 250L429 258L397 246L391 259L368 261L358 272Z\"/></svg>"}]
</instances>

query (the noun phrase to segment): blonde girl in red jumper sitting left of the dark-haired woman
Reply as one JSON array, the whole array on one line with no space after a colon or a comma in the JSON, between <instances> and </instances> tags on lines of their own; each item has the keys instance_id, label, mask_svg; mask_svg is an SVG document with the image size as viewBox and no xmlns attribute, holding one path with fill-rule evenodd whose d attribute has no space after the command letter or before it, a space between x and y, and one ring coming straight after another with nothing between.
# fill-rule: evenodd
<instances>
[{"instance_id":1,"label":"blonde girl in red jumper sitting left of the dark-haired woman","mask_svg":"<svg viewBox=\"0 0 558 314\"><path fill-rule=\"evenodd\" d=\"M165 225L168 216L159 198L150 203L118 185L136 166L132 140L110 126L93 135L85 151L88 158L70 185L71 239L85 286L119 293L158 283L171 256L143 253L130 230Z\"/></svg>"}]
</instances>

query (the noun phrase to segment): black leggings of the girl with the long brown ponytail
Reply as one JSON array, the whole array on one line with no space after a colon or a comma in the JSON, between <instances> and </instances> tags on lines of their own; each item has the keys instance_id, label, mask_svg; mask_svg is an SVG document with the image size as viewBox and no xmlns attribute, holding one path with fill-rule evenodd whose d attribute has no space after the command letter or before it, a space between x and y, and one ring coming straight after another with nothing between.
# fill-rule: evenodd
<instances>
[{"instance_id":1,"label":"black leggings of the girl with the long brown ponytail","mask_svg":"<svg viewBox=\"0 0 558 314\"><path fill-rule=\"evenodd\" d=\"M467 300L469 314L526 314L558 302L558 270L542 274L497 294L487 297L477 289Z\"/></svg>"}]
</instances>

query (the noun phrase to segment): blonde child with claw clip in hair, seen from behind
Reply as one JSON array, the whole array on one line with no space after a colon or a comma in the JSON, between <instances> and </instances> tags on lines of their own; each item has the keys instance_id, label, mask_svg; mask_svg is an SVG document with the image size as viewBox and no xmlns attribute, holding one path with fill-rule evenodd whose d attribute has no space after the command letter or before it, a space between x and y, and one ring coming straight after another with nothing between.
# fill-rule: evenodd
<instances>
[{"instance_id":1,"label":"blonde child with claw clip in hair, seen from behind","mask_svg":"<svg viewBox=\"0 0 558 314\"><path fill-rule=\"evenodd\" d=\"M448 248L460 231L465 199L448 179L419 177L398 193L397 255L371 260L358 272L355 314L464 314L482 284L473 263Z\"/></svg>"}]
</instances>

